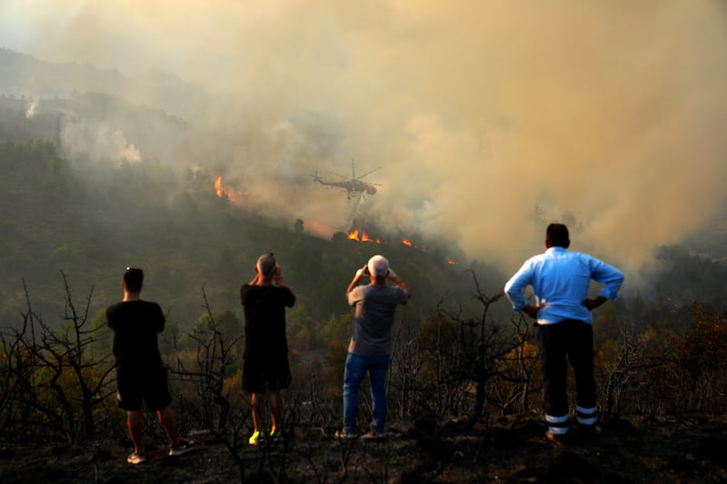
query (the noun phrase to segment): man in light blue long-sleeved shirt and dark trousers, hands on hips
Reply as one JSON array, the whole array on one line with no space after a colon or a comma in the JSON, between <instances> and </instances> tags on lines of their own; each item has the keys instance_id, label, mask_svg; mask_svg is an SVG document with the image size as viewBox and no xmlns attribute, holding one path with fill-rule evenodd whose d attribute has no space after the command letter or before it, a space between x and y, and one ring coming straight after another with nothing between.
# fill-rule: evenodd
<instances>
[{"instance_id":1,"label":"man in light blue long-sleeved shirt and dark trousers, hands on hips","mask_svg":"<svg viewBox=\"0 0 727 484\"><path fill-rule=\"evenodd\" d=\"M530 258L505 284L513 311L537 321L543 369L543 410L549 440L563 441L570 429L566 393L567 364L576 381L576 418L585 435L596 433L598 411L593 377L591 311L616 299L623 283L618 269L582 252L570 252L568 228L551 223L545 232L545 252ZM595 299L588 297L591 280L603 283ZM534 305L523 291L533 286Z\"/></svg>"}]
</instances>

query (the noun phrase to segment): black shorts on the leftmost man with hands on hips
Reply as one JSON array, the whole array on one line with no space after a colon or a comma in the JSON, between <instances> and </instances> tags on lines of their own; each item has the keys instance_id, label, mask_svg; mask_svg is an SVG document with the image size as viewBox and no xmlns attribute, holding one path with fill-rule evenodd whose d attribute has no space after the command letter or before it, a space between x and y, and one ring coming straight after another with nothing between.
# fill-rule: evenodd
<instances>
[{"instance_id":1,"label":"black shorts on the leftmost man with hands on hips","mask_svg":"<svg viewBox=\"0 0 727 484\"><path fill-rule=\"evenodd\" d=\"M119 407L126 411L142 409L142 401L151 411L164 410L172 403L172 396L163 366L144 370L118 367L116 384L119 390Z\"/></svg>"}]
</instances>

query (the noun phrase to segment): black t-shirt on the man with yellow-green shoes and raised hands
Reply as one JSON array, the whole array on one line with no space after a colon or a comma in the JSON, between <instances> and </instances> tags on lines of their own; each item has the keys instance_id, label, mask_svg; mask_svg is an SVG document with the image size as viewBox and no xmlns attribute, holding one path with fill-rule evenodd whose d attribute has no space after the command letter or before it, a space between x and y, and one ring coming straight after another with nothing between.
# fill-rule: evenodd
<instances>
[{"instance_id":1,"label":"black t-shirt on the man with yellow-green shoes and raised hands","mask_svg":"<svg viewBox=\"0 0 727 484\"><path fill-rule=\"evenodd\" d=\"M293 291L285 287L252 286L240 289L244 306L245 358L265 361L287 358L285 308L295 303Z\"/></svg>"}]
</instances>

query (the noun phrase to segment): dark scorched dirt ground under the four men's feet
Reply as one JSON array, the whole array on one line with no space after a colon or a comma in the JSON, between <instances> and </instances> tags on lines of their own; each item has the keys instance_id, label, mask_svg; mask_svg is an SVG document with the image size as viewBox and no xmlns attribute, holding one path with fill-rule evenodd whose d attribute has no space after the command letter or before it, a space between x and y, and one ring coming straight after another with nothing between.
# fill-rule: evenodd
<instances>
[{"instance_id":1,"label":"dark scorched dirt ground under the four men's feet","mask_svg":"<svg viewBox=\"0 0 727 484\"><path fill-rule=\"evenodd\" d=\"M0 482L727 482L727 419L633 417L602 422L594 439L544 438L543 422L512 417L489 429L456 423L393 423L385 440L288 435L284 443L240 448L236 462L209 433L170 458L160 440L144 464L126 463L128 440L30 446L0 440ZM242 469L242 472L241 472Z\"/></svg>"}]
</instances>

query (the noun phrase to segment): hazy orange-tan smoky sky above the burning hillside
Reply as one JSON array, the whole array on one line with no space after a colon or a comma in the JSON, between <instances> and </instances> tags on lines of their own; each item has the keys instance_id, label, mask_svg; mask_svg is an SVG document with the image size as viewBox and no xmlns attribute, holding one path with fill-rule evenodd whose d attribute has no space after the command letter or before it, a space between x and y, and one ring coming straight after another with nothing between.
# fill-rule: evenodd
<instances>
[{"instance_id":1,"label":"hazy orange-tan smoky sky above the burning hillside","mask_svg":"<svg viewBox=\"0 0 727 484\"><path fill-rule=\"evenodd\" d=\"M539 205L627 269L725 206L720 0L0 0L0 45L203 85L230 113L190 156L224 144L255 199L339 230L354 204L308 173L381 166L360 213L506 272Z\"/></svg>"}]
</instances>

